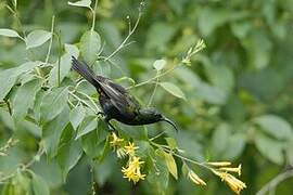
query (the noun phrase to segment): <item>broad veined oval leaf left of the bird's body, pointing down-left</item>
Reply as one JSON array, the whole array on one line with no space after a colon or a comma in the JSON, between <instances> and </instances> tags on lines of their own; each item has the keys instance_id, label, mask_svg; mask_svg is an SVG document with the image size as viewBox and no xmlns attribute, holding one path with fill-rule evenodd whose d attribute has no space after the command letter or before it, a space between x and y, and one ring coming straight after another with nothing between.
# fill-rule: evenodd
<instances>
[{"instance_id":1,"label":"broad veined oval leaf left of the bird's body, pointing down-left","mask_svg":"<svg viewBox=\"0 0 293 195\"><path fill-rule=\"evenodd\" d=\"M67 87L53 89L41 102L41 118L46 121L52 120L67 105Z\"/></svg>"}]
</instances>

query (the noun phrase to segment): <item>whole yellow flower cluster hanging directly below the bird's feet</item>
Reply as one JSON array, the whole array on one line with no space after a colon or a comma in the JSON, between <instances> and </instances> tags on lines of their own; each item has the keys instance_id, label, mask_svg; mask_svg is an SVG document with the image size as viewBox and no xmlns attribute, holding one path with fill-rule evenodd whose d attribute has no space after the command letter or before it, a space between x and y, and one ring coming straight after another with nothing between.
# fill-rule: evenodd
<instances>
[{"instance_id":1,"label":"whole yellow flower cluster hanging directly below the bird's feet","mask_svg":"<svg viewBox=\"0 0 293 195\"><path fill-rule=\"evenodd\" d=\"M133 183L144 180L145 174L141 173L141 165L144 164L144 161L136 156L136 150L139 147L131 142L126 144L124 139L118 138L114 132L111 136L112 141L110 144L116 150L117 156L119 158L128 156L127 166L122 168L124 178L127 178L128 181L132 181Z\"/></svg>"}]
</instances>

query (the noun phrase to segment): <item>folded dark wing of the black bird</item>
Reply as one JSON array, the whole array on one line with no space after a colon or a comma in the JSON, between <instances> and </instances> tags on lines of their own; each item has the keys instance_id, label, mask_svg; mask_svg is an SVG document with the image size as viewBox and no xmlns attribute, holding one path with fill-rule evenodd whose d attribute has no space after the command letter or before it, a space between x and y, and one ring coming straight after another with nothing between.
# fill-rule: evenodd
<instances>
[{"instance_id":1,"label":"folded dark wing of the black bird","mask_svg":"<svg viewBox=\"0 0 293 195\"><path fill-rule=\"evenodd\" d=\"M100 81L100 86L112 104L127 116L136 115L140 105L138 101L132 98L128 91L120 84L112 82L110 79Z\"/></svg>"}]
</instances>

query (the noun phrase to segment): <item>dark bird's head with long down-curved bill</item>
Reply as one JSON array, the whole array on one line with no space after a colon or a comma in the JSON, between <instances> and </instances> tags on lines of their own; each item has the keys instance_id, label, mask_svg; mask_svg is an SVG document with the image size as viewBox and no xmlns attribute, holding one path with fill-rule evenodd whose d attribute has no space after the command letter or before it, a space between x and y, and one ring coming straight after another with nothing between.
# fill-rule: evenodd
<instances>
[{"instance_id":1,"label":"dark bird's head with long down-curved bill","mask_svg":"<svg viewBox=\"0 0 293 195\"><path fill-rule=\"evenodd\" d=\"M150 107L150 108L142 108L140 109L140 117L141 119L146 123L154 123L158 121L166 121L170 123L176 131L178 131L176 125L174 121L162 115L156 108Z\"/></svg>"}]
</instances>

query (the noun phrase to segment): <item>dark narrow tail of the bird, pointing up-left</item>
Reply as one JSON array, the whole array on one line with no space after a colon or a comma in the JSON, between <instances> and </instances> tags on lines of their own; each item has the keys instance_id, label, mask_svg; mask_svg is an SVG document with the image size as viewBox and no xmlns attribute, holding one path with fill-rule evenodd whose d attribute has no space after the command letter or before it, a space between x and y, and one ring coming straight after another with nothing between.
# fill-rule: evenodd
<instances>
[{"instance_id":1,"label":"dark narrow tail of the bird, pointing up-left","mask_svg":"<svg viewBox=\"0 0 293 195\"><path fill-rule=\"evenodd\" d=\"M89 81L95 88L100 88L100 83L97 80L97 76L86 63L81 63L77 58L72 56L72 65L73 69L79 73L79 75L81 75L87 81Z\"/></svg>"}]
</instances>

